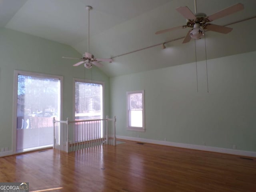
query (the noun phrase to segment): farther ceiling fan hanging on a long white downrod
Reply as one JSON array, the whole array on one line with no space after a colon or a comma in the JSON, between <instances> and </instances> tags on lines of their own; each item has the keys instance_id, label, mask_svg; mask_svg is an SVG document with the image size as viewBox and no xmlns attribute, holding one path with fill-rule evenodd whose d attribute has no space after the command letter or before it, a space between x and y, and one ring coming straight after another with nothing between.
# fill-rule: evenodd
<instances>
[{"instance_id":1,"label":"farther ceiling fan hanging on a long white downrod","mask_svg":"<svg viewBox=\"0 0 256 192\"><path fill-rule=\"evenodd\" d=\"M91 6L86 6L86 9L88 10L88 52L85 52L83 54L82 58L71 58L71 57L62 57L65 59L79 59L82 60L73 66L79 66L80 64L84 64L86 68L92 68L92 65L94 64L95 66L102 67L103 64L101 64L101 61L106 61L106 62L112 62L112 58L94 58L93 54L89 53L89 40L90 40L90 10L92 9Z\"/></svg>"}]
</instances>

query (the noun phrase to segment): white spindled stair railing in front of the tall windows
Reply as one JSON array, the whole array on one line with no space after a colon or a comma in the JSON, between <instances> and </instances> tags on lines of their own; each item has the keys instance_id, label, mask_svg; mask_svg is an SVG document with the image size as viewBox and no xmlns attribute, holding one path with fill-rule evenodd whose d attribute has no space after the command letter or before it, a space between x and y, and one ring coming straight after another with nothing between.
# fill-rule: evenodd
<instances>
[{"instance_id":1,"label":"white spindled stair railing in front of the tall windows","mask_svg":"<svg viewBox=\"0 0 256 192\"><path fill-rule=\"evenodd\" d=\"M84 148L116 145L116 117L96 120L53 120L54 148L71 152Z\"/></svg>"}]
</instances>

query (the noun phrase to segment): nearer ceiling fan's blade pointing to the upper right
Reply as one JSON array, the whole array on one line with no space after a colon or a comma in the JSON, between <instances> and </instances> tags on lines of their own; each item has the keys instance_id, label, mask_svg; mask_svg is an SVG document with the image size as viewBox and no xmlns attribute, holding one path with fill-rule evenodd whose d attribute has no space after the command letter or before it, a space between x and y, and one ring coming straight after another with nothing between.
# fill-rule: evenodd
<instances>
[{"instance_id":1,"label":"nearer ceiling fan's blade pointing to the upper right","mask_svg":"<svg viewBox=\"0 0 256 192\"><path fill-rule=\"evenodd\" d=\"M230 6L226 9L223 9L221 11L218 11L218 12L208 16L208 20L213 21L213 20L216 20L218 18L222 18L224 16L228 16L232 13L238 12L238 11L243 10L243 9L244 9L244 5L242 3L238 3L238 4Z\"/></svg>"}]
</instances>

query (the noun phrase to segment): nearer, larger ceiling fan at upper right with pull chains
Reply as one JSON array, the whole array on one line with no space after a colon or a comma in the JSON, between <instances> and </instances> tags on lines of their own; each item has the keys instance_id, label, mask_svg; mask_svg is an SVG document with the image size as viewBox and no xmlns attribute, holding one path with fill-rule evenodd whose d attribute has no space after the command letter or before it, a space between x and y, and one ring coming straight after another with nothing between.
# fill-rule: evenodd
<instances>
[{"instance_id":1,"label":"nearer, larger ceiling fan at upper right with pull chains","mask_svg":"<svg viewBox=\"0 0 256 192\"><path fill-rule=\"evenodd\" d=\"M194 0L194 4L195 4L195 14L193 14L193 12L187 6L176 8L176 10L186 18L187 20L186 25L178 26L178 27L174 27L166 30L160 30L155 34L161 34L161 33L169 32L179 28L187 28L187 27L193 28L188 31L182 43L189 42L191 38L200 39L204 35L204 30L210 30L214 32L227 34L232 31L232 28L211 24L210 22L244 9L244 5L241 3L238 3L228 8L225 8L223 10L220 10L219 12L216 12L210 16L207 16L204 13L197 13L196 0Z\"/></svg>"}]
</instances>

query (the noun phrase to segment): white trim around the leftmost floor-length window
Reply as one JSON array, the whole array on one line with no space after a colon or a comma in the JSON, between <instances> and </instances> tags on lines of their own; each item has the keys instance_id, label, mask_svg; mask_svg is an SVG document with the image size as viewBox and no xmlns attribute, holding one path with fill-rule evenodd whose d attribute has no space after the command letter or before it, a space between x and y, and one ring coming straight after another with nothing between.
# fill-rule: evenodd
<instances>
[{"instance_id":1,"label":"white trim around the leftmost floor-length window","mask_svg":"<svg viewBox=\"0 0 256 192\"><path fill-rule=\"evenodd\" d=\"M63 108L63 76L50 75L36 72L14 70L14 82L13 82L13 112L12 112L12 153L16 154L17 150L17 100L18 100L18 75L34 76L42 78L53 78L60 80L60 119L62 119Z\"/></svg>"}]
</instances>

